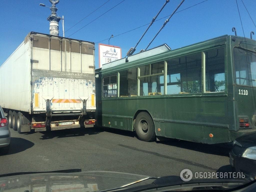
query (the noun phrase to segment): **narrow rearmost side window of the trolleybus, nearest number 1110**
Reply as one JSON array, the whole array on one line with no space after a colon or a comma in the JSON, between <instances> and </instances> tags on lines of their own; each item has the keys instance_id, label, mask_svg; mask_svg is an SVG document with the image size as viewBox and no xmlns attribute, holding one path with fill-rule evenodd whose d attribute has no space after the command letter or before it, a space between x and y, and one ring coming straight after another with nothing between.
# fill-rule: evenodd
<instances>
[{"instance_id":1,"label":"narrow rearmost side window of the trolleybus, nearest number 1110","mask_svg":"<svg viewBox=\"0 0 256 192\"><path fill-rule=\"evenodd\" d=\"M206 92L225 91L225 52L224 48L205 51L205 90Z\"/></svg>"}]
</instances>

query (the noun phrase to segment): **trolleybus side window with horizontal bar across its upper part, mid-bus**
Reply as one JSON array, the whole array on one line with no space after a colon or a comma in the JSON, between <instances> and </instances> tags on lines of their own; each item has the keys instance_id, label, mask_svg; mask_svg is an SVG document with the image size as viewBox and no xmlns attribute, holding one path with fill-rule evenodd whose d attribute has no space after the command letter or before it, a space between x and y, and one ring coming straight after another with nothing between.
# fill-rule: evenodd
<instances>
[{"instance_id":1,"label":"trolleybus side window with horizontal bar across its upper part, mid-bus","mask_svg":"<svg viewBox=\"0 0 256 192\"><path fill-rule=\"evenodd\" d=\"M164 61L140 67L140 96L163 95Z\"/></svg>"}]
</instances>

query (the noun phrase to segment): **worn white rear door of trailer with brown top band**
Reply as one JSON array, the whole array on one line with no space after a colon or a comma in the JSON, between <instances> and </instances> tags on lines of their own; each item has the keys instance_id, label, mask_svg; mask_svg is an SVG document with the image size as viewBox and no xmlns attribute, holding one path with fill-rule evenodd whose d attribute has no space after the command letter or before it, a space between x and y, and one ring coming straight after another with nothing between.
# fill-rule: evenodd
<instances>
[{"instance_id":1,"label":"worn white rear door of trailer with brown top band","mask_svg":"<svg viewBox=\"0 0 256 192\"><path fill-rule=\"evenodd\" d=\"M95 111L94 44L47 35L31 35L33 112Z\"/></svg>"}]
</instances>

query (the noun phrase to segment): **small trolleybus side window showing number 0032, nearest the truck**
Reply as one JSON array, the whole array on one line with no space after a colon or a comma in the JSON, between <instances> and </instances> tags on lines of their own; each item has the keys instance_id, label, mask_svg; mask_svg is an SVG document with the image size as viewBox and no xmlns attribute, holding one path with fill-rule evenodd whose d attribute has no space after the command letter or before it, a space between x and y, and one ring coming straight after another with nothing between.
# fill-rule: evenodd
<instances>
[{"instance_id":1,"label":"small trolleybus side window showing number 0032, nearest the truck","mask_svg":"<svg viewBox=\"0 0 256 192\"><path fill-rule=\"evenodd\" d=\"M103 78L103 97L117 97L117 76Z\"/></svg>"}]
</instances>

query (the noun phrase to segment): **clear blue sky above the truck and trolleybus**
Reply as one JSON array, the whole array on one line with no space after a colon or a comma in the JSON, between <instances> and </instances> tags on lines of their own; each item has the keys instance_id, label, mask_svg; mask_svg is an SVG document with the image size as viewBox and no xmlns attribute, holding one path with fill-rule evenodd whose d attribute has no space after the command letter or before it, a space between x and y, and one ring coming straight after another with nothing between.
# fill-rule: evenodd
<instances>
[{"instance_id":1,"label":"clear blue sky above the truck and trolleybus","mask_svg":"<svg viewBox=\"0 0 256 192\"><path fill-rule=\"evenodd\" d=\"M57 13L60 16L64 15L65 31L107 1L60 0L56 5L58 8ZM122 1L108 1L75 27L66 31L65 37L70 36ZM170 15L180 1L170 0L157 19ZM203 1L205 0L185 0L178 11ZM237 2L245 36L250 37L251 31L254 31L256 34L256 27L251 21L242 1L237 0ZM243 0L243 2L254 23L256 23L256 1ZM0 65L2 65L30 31L49 34L49 22L46 18L50 15L50 9L39 6L39 3L44 3L47 6L51 6L51 3L48 0L2 0L0 3ZM114 38L111 38L110 45L121 47L122 57L124 57L126 52L136 45L148 25L123 35L119 34L150 23L164 3L165 0L125 0L108 13L71 35L70 38L96 43L108 39L113 34ZM137 51L147 47L165 20L166 18L156 21L151 26L137 46ZM149 48L166 43L172 49L175 49L217 36L231 35L234 34L232 27L236 27L239 36L243 36L236 0L208 0L175 14ZM256 39L256 35L253 39ZM108 40L101 41L100 43L108 44ZM95 48L95 66L98 66L98 44L95 44Z\"/></svg>"}]
</instances>

